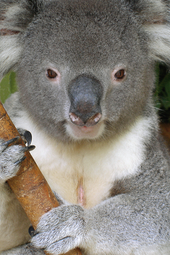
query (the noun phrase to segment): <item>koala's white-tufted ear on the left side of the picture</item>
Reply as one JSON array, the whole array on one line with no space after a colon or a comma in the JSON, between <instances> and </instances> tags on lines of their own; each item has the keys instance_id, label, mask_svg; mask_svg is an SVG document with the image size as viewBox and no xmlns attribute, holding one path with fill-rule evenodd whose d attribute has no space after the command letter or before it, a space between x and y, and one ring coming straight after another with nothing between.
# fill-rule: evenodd
<instances>
[{"instance_id":1,"label":"koala's white-tufted ear on the left side of the picture","mask_svg":"<svg viewBox=\"0 0 170 255\"><path fill-rule=\"evenodd\" d=\"M40 0L0 0L0 80L18 62L21 35L41 6Z\"/></svg>"}]
</instances>

